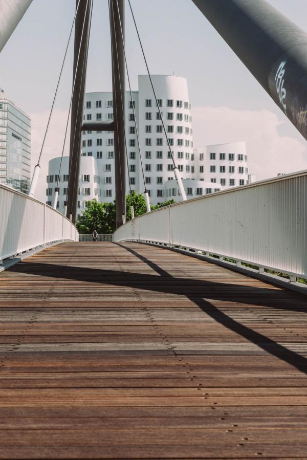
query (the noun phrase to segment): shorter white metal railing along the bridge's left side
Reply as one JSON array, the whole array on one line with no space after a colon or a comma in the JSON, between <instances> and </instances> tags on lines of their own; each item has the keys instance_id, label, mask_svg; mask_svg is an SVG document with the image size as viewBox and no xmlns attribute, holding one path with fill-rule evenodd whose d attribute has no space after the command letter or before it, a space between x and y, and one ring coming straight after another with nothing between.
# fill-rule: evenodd
<instances>
[{"instance_id":1,"label":"shorter white metal railing along the bridge's left side","mask_svg":"<svg viewBox=\"0 0 307 460\"><path fill-rule=\"evenodd\" d=\"M0 264L39 246L78 239L76 227L60 212L0 184Z\"/></svg>"}]
</instances>

